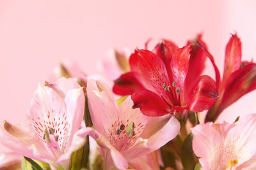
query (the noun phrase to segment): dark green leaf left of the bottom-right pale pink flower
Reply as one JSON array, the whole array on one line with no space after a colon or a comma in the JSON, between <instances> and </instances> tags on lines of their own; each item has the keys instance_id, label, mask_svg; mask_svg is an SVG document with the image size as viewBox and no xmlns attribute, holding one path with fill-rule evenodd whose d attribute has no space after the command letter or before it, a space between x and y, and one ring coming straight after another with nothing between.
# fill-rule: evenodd
<instances>
[{"instance_id":1,"label":"dark green leaf left of the bottom-right pale pink flower","mask_svg":"<svg viewBox=\"0 0 256 170\"><path fill-rule=\"evenodd\" d=\"M181 162L184 169L193 170L196 162L195 156L192 149L193 134L189 133L187 138L184 140L181 148Z\"/></svg>"}]
</instances>

